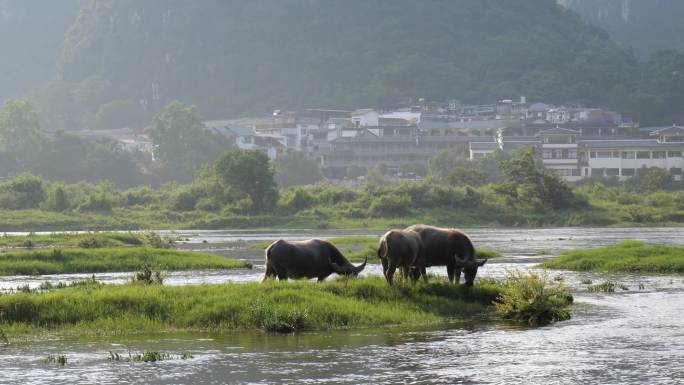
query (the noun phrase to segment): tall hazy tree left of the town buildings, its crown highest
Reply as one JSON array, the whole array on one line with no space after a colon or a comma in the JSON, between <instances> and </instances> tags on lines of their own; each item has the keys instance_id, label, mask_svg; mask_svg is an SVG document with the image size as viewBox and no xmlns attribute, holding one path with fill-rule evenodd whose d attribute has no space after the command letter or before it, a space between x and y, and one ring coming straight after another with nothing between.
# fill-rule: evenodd
<instances>
[{"instance_id":1,"label":"tall hazy tree left of the town buildings, its crown highest","mask_svg":"<svg viewBox=\"0 0 684 385\"><path fill-rule=\"evenodd\" d=\"M177 101L164 107L147 133L165 180L192 180L201 165L213 162L230 147L223 136L204 128L194 107Z\"/></svg>"}]
</instances>

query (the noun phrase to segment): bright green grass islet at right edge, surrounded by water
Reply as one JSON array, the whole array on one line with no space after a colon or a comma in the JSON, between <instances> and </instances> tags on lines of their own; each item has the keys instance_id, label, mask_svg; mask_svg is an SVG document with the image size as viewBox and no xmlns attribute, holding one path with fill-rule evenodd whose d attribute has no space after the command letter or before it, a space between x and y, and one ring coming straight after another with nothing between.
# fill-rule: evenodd
<instances>
[{"instance_id":1,"label":"bright green grass islet at right edge, surrounded by water","mask_svg":"<svg viewBox=\"0 0 684 385\"><path fill-rule=\"evenodd\" d=\"M684 247L624 241L592 249L569 250L542 267L577 271L684 274Z\"/></svg>"}]
</instances>

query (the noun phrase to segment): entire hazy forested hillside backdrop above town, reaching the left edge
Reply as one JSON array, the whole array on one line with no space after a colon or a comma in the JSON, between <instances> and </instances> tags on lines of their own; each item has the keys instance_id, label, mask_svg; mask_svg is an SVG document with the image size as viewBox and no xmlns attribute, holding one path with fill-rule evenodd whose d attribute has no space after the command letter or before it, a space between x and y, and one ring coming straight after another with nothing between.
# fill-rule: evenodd
<instances>
[{"instance_id":1,"label":"entire hazy forested hillside backdrop above town, reaching the left edge","mask_svg":"<svg viewBox=\"0 0 684 385\"><path fill-rule=\"evenodd\" d=\"M587 20L628 4L640 31L682 7L560 3ZM639 62L557 0L0 0L0 32L0 99L29 97L48 131L143 126L171 100L205 119L521 95L683 118L683 55Z\"/></svg>"}]
</instances>

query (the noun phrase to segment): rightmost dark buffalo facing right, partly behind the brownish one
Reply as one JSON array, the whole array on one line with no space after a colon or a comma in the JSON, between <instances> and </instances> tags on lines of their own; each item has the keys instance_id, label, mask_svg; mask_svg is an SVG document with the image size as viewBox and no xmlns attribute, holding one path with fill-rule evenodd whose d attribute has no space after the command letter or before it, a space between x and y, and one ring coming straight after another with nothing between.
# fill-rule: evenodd
<instances>
[{"instance_id":1,"label":"rightmost dark buffalo facing right, partly behind the brownish one","mask_svg":"<svg viewBox=\"0 0 684 385\"><path fill-rule=\"evenodd\" d=\"M461 269L466 286L473 286L477 268L487 260L475 259L475 248L467 235L456 229L443 229L428 225L413 225L406 230L420 235L424 248L424 266L446 266L449 281L456 283L461 279ZM413 272L417 275L417 272Z\"/></svg>"}]
</instances>

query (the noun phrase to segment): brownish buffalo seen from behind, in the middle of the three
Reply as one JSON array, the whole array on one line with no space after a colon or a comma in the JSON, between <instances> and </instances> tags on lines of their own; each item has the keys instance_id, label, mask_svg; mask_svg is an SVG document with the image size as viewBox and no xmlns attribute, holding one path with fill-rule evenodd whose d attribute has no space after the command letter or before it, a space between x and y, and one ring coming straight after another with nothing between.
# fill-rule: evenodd
<instances>
[{"instance_id":1,"label":"brownish buffalo seen from behind, in the middle of the three","mask_svg":"<svg viewBox=\"0 0 684 385\"><path fill-rule=\"evenodd\" d=\"M418 274L425 272L423 267L423 242L420 235L408 230L390 230L380 238L378 245L378 258L382 262L382 272L387 283L392 285L394 272L397 267L402 269L404 278L409 277L409 270L415 269ZM413 281L418 280L418 275L412 276ZM427 282L427 275L423 275Z\"/></svg>"}]
</instances>

